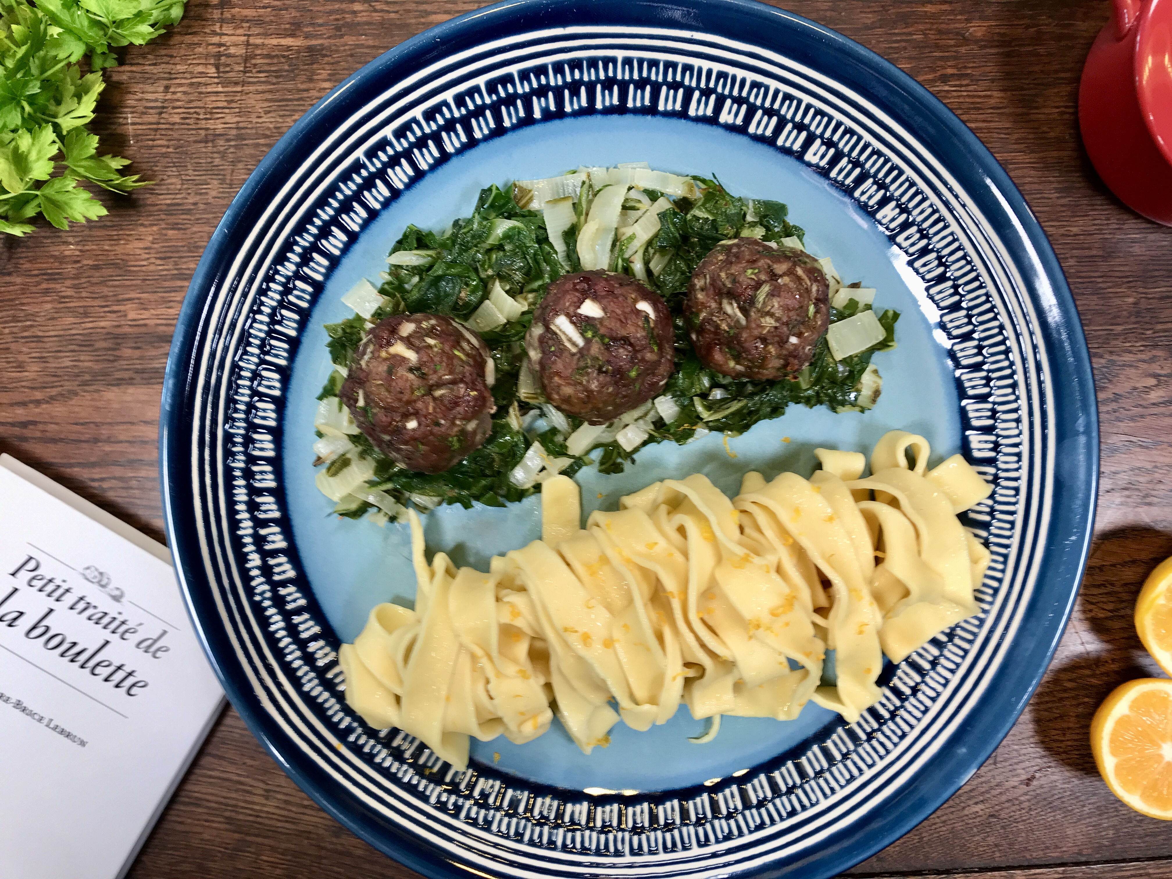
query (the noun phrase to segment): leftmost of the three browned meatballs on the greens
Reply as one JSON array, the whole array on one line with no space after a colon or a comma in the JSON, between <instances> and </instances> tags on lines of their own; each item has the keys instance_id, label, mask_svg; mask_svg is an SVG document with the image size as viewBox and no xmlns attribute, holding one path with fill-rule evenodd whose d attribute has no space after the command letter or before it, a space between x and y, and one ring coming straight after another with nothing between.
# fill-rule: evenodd
<instances>
[{"instance_id":1,"label":"leftmost of the three browned meatballs on the greens","mask_svg":"<svg viewBox=\"0 0 1172 879\"><path fill-rule=\"evenodd\" d=\"M354 353L341 398L375 448L408 470L443 472L492 432L492 359L438 314L379 321Z\"/></svg>"}]
</instances>

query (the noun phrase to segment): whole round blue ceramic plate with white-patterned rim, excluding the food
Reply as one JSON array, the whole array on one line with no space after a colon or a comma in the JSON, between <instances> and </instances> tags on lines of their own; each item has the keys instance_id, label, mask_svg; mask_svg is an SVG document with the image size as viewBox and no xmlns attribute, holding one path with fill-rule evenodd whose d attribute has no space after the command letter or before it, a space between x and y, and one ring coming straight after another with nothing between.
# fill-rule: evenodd
<instances>
[{"instance_id":1,"label":"whole round blue ceramic plate with white-patterned rim, excluding the food","mask_svg":"<svg viewBox=\"0 0 1172 879\"><path fill-rule=\"evenodd\" d=\"M854 724L687 711L582 756L557 724L481 744L464 771L342 697L335 650L414 593L403 526L331 517L311 466L322 323L403 226L443 227L489 183L646 161L775 198L810 248L904 313L866 414L791 409L731 441L662 444L590 505L665 476L725 490L809 472L886 430L963 451L995 485L969 515L982 613L885 669ZM779 442L782 436L790 442ZM338 87L245 184L199 264L168 363L168 525L192 616L236 708L355 833L430 877L829 877L887 845L1008 731L1082 573L1097 421L1078 316L1042 230L943 105L866 49L742 0L523 0L409 40ZM432 550L483 564L539 532L537 497L444 507Z\"/></svg>"}]
</instances>

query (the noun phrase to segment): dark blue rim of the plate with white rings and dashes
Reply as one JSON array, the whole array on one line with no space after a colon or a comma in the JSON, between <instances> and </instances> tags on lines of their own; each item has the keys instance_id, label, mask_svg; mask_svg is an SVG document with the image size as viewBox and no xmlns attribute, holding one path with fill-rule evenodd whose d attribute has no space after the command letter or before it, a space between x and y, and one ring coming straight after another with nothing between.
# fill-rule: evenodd
<instances>
[{"instance_id":1,"label":"dark blue rim of the plate with white rings and dashes","mask_svg":"<svg viewBox=\"0 0 1172 879\"><path fill-rule=\"evenodd\" d=\"M587 8L588 7L588 8ZM768 46L768 47L766 47ZM941 313L980 616L880 683L859 723L713 788L592 797L381 738L339 694L336 638L288 533L279 449L299 334L356 233L398 191L509 130L590 114L688 118L824 175L908 257ZM872 53L742 0L529 0L400 46L306 115L216 230L163 400L168 526L233 704L293 778L432 877L832 875L922 820L983 762L1061 635L1097 483L1089 357L1062 272L976 138ZM1029 628L1029 638L1015 638Z\"/></svg>"}]
</instances>

